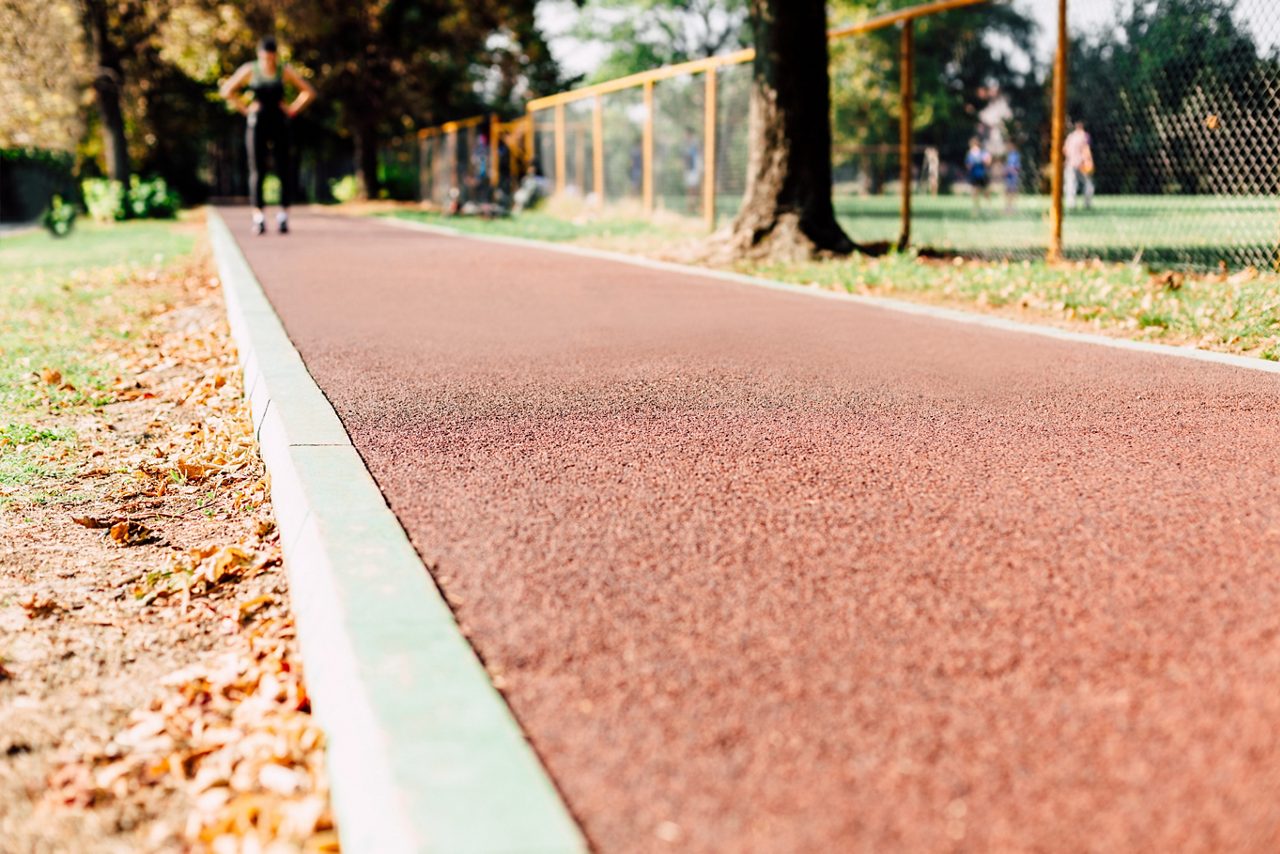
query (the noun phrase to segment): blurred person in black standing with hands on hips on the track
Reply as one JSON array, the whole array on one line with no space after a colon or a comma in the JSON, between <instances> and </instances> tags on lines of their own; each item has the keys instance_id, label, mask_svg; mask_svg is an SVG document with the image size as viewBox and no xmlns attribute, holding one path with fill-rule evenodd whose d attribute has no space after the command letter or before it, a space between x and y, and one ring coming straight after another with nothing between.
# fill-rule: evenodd
<instances>
[{"instance_id":1,"label":"blurred person in black standing with hands on hips on the track","mask_svg":"<svg viewBox=\"0 0 1280 854\"><path fill-rule=\"evenodd\" d=\"M284 85L298 90L292 104L284 102ZM253 93L244 101L241 90ZM266 181L266 157L270 150L275 174L280 179L280 213L275 222L282 234L289 233L289 205L293 202L293 154L289 119L316 99L316 91L291 65L280 63L274 36L257 44L257 61L244 63L230 76L220 93L237 111L248 118L244 146L248 149L248 201L253 211L253 233L266 232L262 211L262 183Z\"/></svg>"}]
</instances>

